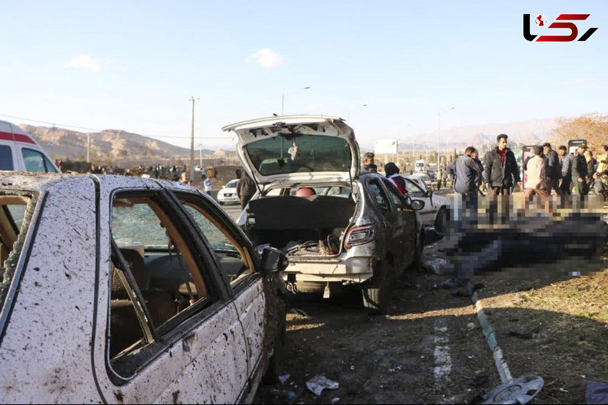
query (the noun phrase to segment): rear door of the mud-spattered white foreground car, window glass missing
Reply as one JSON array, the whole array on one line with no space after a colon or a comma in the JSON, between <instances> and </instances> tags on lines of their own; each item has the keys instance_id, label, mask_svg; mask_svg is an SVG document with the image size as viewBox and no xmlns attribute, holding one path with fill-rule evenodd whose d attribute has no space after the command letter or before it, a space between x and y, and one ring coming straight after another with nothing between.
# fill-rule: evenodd
<instances>
[{"instance_id":1,"label":"rear door of the mud-spattered white foreground car, window glass missing","mask_svg":"<svg viewBox=\"0 0 608 405\"><path fill-rule=\"evenodd\" d=\"M164 190L106 182L93 356L100 393L112 403L238 401L243 328L208 247Z\"/></svg>"}]
</instances>

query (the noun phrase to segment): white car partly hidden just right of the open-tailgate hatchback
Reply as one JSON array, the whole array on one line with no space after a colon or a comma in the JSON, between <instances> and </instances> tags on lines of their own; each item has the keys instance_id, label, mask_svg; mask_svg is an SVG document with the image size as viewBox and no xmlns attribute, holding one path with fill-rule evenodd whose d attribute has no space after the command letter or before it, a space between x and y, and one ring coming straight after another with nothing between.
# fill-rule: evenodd
<instances>
[{"instance_id":1,"label":"white car partly hidden just right of the open-tailgate hatchback","mask_svg":"<svg viewBox=\"0 0 608 405\"><path fill-rule=\"evenodd\" d=\"M424 201L424 207L418 213L425 226L434 226L435 230L443 234L447 230L449 221L450 200L441 195L435 195L426 188L420 178L406 176L407 191L413 200Z\"/></svg>"}]
</instances>

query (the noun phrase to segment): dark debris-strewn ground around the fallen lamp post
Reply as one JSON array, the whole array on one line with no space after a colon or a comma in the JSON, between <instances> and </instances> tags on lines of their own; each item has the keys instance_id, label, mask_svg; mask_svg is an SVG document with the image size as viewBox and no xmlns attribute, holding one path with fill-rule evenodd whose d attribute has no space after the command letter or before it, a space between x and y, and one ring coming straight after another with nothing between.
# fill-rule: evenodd
<instances>
[{"instance_id":1,"label":"dark debris-strewn ground around the fallen lamp post","mask_svg":"<svg viewBox=\"0 0 608 405\"><path fill-rule=\"evenodd\" d=\"M427 256L436 249L427 247ZM536 403L584 403L588 381L608 382L606 252L602 260L589 275L588 263L568 261L475 276L512 375L545 380ZM259 401L475 403L500 379L470 297L432 288L445 279L407 274L394 286L388 316L365 314L354 292L291 297L287 378L260 389ZM314 395L305 383L316 375L339 388Z\"/></svg>"}]
</instances>

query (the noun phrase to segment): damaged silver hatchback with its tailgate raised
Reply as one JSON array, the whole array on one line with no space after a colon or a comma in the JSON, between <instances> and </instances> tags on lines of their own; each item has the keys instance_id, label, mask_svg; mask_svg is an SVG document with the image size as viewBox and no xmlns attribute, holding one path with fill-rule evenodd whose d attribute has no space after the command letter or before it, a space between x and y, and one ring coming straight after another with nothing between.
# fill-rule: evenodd
<instances>
[{"instance_id":1,"label":"damaged silver hatchback with its tailgate raised","mask_svg":"<svg viewBox=\"0 0 608 405\"><path fill-rule=\"evenodd\" d=\"M403 196L377 173L359 176L359 146L340 117L280 116L224 126L259 187L238 224L256 244L288 254L292 291L344 285L387 309L391 280L421 261L423 201ZM306 195L306 196L305 196Z\"/></svg>"}]
</instances>

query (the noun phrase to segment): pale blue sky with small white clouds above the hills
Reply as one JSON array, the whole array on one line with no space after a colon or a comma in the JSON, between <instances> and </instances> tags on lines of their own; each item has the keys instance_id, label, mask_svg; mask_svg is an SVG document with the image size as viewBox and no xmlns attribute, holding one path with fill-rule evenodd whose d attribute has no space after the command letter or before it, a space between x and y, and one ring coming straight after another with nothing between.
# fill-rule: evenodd
<instances>
[{"instance_id":1,"label":"pale blue sky with small white clouds above the hills","mask_svg":"<svg viewBox=\"0 0 608 405\"><path fill-rule=\"evenodd\" d=\"M523 13L599 29L531 43ZM568 33L547 30L532 22ZM451 106L443 128L607 113L607 33L605 1L5 2L0 114L187 137L195 95L213 147L279 113L282 88L286 114L350 111L361 142L436 131Z\"/></svg>"}]
</instances>

